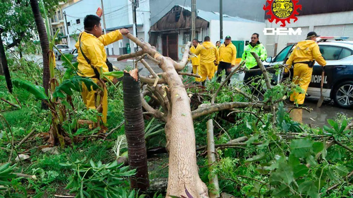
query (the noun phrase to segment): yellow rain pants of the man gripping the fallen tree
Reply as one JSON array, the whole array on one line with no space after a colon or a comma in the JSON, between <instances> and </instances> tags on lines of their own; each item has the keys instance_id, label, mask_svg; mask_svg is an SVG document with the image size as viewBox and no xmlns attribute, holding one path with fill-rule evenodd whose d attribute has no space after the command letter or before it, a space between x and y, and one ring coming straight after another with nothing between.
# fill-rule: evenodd
<instances>
[{"instance_id":1,"label":"yellow rain pants of the man gripping the fallen tree","mask_svg":"<svg viewBox=\"0 0 353 198\"><path fill-rule=\"evenodd\" d=\"M94 81L95 83L98 82L98 79L96 78L92 78L92 81ZM84 83L82 83L82 98L83 98L83 103L86 105L87 109L96 109L96 92L94 91L91 87L91 91L88 91L86 85ZM102 122L104 124L107 123L107 113L108 113L108 92L107 92L107 88L104 86L104 91L103 91L103 98L101 100L101 104L102 104ZM99 120L98 120L99 122Z\"/></svg>"}]
</instances>

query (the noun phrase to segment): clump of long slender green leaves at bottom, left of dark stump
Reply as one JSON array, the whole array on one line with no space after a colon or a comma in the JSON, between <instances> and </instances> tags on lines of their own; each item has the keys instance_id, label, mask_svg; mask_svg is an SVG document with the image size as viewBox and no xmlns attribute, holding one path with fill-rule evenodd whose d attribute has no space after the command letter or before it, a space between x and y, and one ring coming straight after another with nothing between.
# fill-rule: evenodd
<instances>
[{"instance_id":1,"label":"clump of long slender green leaves at bottom, left of dark stump","mask_svg":"<svg viewBox=\"0 0 353 198\"><path fill-rule=\"evenodd\" d=\"M102 164L90 161L84 163L86 159L76 160L73 163L61 163L61 166L71 167L74 171L69 177L66 189L71 189L70 193L76 193L76 197L127 197L125 190L121 190L119 185L124 185L125 177L135 174L136 170L128 171L128 167L121 167L114 161ZM131 197L130 197L131 196ZM134 197L130 193L128 198Z\"/></svg>"}]
</instances>

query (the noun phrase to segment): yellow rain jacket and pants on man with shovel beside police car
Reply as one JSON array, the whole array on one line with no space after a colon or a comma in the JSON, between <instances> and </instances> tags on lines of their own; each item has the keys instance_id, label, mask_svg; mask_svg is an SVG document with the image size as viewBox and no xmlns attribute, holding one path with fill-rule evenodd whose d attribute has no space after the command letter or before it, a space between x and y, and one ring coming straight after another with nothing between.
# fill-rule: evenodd
<instances>
[{"instance_id":1,"label":"yellow rain jacket and pants on man with shovel beside police car","mask_svg":"<svg viewBox=\"0 0 353 198\"><path fill-rule=\"evenodd\" d=\"M319 45L313 40L305 40L299 42L295 47L294 50L289 56L286 64L288 68L291 68L292 64L294 64L294 72L293 72L293 82L299 85L302 89L304 89L304 93L297 93L294 92L291 95L291 101L294 101L297 104L303 104L305 99L306 91L309 87L311 75L312 75L312 68L310 68L307 64L298 63L298 62L306 62L306 61L317 61L321 66L326 65L326 61L321 55Z\"/></svg>"}]
</instances>

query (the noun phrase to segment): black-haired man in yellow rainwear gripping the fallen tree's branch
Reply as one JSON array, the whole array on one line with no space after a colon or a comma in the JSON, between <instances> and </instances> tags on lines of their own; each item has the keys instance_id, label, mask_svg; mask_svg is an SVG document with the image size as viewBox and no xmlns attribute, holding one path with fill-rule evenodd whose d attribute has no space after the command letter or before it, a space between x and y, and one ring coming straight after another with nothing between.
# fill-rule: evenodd
<instances>
[{"instance_id":1,"label":"black-haired man in yellow rainwear gripping the fallen tree's branch","mask_svg":"<svg viewBox=\"0 0 353 198\"><path fill-rule=\"evenodd\" d=\"M87 15L83 24L85 31L80 33L79 41L75 44L78 51L78 75L91 78L94 82L100 79L101 68L103 72L108 72L107 53L104 46L122 39L122 35L129 33L127 29L115 30L106 35L102 35L101 18L95 15ZM83 53L82 53L83 52ZM104 80L104 79L103 79ZM117 79L112 78L114 83ZM82 98L87 109L96 109L96 92L88 91L82 84ZM107 123L108 98L107 89L104 88L102 105L102 122Z\"/></svg>"}]
</instances>

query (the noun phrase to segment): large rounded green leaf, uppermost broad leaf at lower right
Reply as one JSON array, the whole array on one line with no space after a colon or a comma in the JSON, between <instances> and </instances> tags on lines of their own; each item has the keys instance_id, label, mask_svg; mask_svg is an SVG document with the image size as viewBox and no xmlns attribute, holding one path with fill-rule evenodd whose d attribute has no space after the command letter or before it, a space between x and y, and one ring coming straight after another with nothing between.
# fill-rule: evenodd
<instances>
[{"instance_id":1,"label":"large rounded green leaf, uppermost broad leaf at lower right","mask_svg":"<svg viewBox=\"0 0 353 198\"><path fill-rule=\"evenodd\" d=\"M291 153L296 157L307 157L311 153L313 141L310 138L302 138L291 142Z\"/></svg>"}]
</instances>

